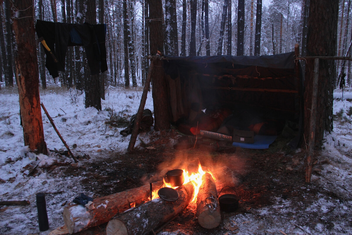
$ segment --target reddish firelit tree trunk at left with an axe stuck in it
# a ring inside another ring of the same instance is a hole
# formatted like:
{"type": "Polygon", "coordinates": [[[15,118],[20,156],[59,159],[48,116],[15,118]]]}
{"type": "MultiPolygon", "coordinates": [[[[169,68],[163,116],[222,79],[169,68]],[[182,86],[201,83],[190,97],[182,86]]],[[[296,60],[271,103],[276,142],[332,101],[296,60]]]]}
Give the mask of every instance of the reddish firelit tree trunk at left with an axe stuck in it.
{"type": "Polygon", "coordinates": [[[17,51],[15,55],[20,115],[23,126],[24,145],[36,153],[48,154],[44,141],[42,112],[39,98],[39,71],[32,0],[16,1],[12,10],[12,26],[17,51]],[[18,12],[17,9],[27,9],[18,12]]]}

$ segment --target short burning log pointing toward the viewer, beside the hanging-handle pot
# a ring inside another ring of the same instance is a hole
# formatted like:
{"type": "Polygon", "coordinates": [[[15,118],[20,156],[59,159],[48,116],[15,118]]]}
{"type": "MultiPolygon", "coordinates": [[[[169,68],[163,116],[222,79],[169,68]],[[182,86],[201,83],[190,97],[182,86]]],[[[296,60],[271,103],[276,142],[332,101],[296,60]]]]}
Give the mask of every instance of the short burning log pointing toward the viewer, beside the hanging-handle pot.
{"type": "Polygon", "coordinates": [[[203,228],[211,229],[219,226],[221,214],[218,193],[211,174],[205,173],[197,195],[198,223],[203,228]]]}

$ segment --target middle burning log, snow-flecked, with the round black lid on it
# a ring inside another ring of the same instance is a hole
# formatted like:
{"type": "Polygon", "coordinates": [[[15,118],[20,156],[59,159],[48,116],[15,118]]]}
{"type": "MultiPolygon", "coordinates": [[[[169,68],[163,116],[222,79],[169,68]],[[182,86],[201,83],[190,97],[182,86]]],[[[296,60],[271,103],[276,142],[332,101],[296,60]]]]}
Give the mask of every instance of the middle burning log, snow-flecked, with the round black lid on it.
{"type": "Polygon", "coordinates": [[[107,235],[146,234],[162,226],[186,208],[193,198],[194,186],[191,182],[178,187],[180,197],[168,202],[161,198],[153,199],[139,207],[115,217],[106,226],[107,235]]]}

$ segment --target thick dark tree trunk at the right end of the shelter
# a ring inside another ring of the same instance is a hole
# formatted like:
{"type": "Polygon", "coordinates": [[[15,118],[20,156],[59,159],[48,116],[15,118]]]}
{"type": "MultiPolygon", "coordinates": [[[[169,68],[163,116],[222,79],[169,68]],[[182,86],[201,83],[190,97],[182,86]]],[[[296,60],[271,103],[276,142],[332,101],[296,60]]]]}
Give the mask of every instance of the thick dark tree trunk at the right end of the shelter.
{"type": "MultiPolygon", "coordinates": [[[[335,56],[337,43],[338,1],[310,0],[308,18],[307,56],[335,56]],[[322,24],[324,22],[324,24],[322,24]],[[322,40],[323,39],[323,40],[322,40]]],[[[321,146],[324,131],[333,129],[333,60],[320,60],[318,104],[316,112],[315,143],[321,146]]],[[[307,61],[305,80],[304,136],[308,139],[310,129],[309,108],[312,103],[314,80],[313,60],[307,61]]]]}

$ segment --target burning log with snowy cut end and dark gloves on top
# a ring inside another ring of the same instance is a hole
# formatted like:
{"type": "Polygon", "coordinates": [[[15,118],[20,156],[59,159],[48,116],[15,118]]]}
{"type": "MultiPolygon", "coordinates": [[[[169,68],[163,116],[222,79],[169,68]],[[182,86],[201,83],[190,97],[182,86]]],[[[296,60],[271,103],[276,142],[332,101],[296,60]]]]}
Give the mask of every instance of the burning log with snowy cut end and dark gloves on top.
{"type": "MultiPolygon", "coordinates": [[[[163,182],[153,184],[153,190],[162,188],[163,182]]],[[[111,218],[135,205],[148,201],[150,185],[114,193],[93,200],[94,209],[73,204],[64,208],[63,217],[70,234],[108,222],[111,218]]]]}

